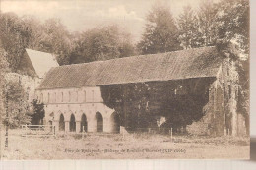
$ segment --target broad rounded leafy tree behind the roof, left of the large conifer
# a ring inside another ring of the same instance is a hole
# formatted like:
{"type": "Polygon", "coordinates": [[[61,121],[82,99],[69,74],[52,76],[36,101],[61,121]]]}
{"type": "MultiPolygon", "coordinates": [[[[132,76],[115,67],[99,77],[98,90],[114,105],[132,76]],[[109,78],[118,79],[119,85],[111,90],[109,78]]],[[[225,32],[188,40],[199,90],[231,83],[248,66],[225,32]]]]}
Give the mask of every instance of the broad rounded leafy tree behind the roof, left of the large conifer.
{"type": "Polygon", "coordinates": [[[93,28],[77,36],[70,63],[108,60],[134,54],[131,35],[117,26],[93,28]]]}

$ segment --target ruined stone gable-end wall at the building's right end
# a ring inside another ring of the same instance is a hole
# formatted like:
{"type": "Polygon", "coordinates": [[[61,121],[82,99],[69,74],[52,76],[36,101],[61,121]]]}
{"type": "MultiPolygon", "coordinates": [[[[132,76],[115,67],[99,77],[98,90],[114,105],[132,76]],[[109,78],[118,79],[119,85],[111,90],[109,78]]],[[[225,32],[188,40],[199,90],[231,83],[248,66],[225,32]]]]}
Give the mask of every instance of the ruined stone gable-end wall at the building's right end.
{"type": "Polygon", "coordinates": [[[238,73],[235,62],[225,58],[217,80],[210,85],[209,102],[204,107],[205,116],[188,125],[188,133],[213,136],[245,135],[245,119],[237,112],[237,95],[238,73]]]}

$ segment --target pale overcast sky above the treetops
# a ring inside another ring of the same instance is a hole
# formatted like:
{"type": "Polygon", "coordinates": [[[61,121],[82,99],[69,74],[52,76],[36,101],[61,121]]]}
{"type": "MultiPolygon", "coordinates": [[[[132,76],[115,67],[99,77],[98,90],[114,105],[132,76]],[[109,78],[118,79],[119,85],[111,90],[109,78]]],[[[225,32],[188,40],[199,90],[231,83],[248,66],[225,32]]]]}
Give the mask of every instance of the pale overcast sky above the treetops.
{"type": "MultiPolygon", "coordinates": [[[[1,1],[1,0],[0,0],[1,1]]],[[[197,8],[201,0],[2,0],[2,12],[32,15],[44,21],[59,18],[70,31],[117,24],[139,40],[145,16],[156,3],[169,6],[178,16],[184,5],[197,8]]]]}

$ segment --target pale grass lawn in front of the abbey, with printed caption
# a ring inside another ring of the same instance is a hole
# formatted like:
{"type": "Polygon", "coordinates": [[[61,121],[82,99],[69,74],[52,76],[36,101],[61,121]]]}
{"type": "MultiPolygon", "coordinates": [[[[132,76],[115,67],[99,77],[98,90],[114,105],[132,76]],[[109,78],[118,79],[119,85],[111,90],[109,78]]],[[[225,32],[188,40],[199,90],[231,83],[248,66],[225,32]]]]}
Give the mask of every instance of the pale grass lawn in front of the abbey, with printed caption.
{"type": "Polygon", "coordinates": [[[194,137],[154,134],[88,134],[22,137],[9,130],[5,148],[1,131],[1,158],[5,159],[248,159],[249,138],[194,137]]]}

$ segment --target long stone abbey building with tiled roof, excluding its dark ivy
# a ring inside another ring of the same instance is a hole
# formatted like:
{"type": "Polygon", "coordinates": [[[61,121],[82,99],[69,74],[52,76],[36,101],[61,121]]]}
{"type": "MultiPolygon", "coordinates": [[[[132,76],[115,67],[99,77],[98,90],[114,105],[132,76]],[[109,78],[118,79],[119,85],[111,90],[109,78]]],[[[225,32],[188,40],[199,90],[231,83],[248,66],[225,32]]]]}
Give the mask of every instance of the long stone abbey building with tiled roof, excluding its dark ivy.
{"type": "MultiPolygon", "coordinates": [[[[131,101],[124,99],[119,112],[109,108],[102,97],[102,86],[122,85],[125,94],[132,84],[171,84],[173,88],[161,92],[179,96],[177,102],[184,102],[182,98],[188,96],[204,98],[197,110],[200,116],[184,125],[189,133],[224,135],[228,131],[236,136],[246,133],[245,118],[237,112],[237,81],[235,60],[216,47],[203,47],[53,67],[36,88],[35,97],[44,103],[44,122],[55,125],[57,131],[118,133],[120,127],[127,128],[126,108],[131,101]],[[122,112],[124,121],[120,120],[122,112]]],[[[180,111],[175,105],[170,107],[175,114],[180,111]]],[[[163,117],[160,113],[158,116],[163,117]]],[[[175,117],[170,116],[169,121],[172,119],[175,117]]]]}

